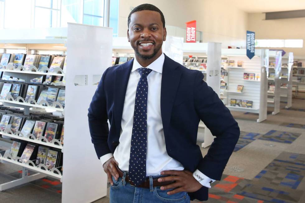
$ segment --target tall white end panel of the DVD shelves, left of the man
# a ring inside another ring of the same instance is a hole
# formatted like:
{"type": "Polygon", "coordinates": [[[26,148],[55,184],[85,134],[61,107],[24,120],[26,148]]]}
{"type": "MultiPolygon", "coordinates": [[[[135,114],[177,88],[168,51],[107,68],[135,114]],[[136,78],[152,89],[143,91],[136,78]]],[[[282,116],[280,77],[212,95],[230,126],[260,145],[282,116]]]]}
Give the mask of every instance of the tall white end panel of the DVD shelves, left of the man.
{"type": "Polygon", "coordinates": [[[87,109],[97,88],[93,77],[111,66],[112,28],[68,23],[67,51],[62,202],[93,202],[106,196],[107,176],[91,143],[87,109]]]}

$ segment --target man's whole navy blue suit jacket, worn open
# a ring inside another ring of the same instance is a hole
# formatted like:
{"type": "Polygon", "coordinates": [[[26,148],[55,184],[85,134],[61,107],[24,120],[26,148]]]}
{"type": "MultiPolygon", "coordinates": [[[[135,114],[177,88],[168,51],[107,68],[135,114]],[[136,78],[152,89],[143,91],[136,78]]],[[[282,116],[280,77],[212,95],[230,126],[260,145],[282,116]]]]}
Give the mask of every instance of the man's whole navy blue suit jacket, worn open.
{"type": "MultiPolygon", "coordinates": [[[[106,69],[88,109],[91,140],[98,158],[114,153],[119,144],[132,66],[133,60],[106,69]]],[[[168,155],[179,161],[185,170],[199,169],[209,178],[220,180],[240,131],[228,108],[203,78],[201,72],[189,70],[165,56],[161,82],[165,144],[168,155]],[[204,157],[196,144],[200,120],[216,136],[204,157]]],[[[189,195],[192,200],[207,200],[208,188],[202,187],[189,195]]]]}

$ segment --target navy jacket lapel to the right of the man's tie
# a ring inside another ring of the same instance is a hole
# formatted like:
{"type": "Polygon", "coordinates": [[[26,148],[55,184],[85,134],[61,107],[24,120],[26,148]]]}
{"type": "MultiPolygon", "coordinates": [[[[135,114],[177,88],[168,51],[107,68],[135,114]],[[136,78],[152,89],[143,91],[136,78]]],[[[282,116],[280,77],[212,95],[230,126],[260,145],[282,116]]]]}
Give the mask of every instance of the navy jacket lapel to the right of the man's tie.
{"type": "Polygon", "coordinates": [[[161,117],[163,128],[169,125],[171,111],[180,82],[181,70],[177,67],[178,65],[165,55],[161,81],[161,117]]]}

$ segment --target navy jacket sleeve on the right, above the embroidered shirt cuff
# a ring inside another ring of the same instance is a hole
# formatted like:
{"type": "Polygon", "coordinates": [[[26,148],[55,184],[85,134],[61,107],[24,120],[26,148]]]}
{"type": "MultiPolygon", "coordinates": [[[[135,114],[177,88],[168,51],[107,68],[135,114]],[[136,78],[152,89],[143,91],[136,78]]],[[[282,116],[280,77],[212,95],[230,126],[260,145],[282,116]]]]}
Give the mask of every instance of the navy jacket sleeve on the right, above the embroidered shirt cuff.
{"type": "Polygon", "coordinates": [[[199,118],[216,137],[197,168],[209,178],[220,180],[238,141],[240,130],[229,109],[203,78],[203,74],[198,72],[194,86],[195,109],[199,118]]]}

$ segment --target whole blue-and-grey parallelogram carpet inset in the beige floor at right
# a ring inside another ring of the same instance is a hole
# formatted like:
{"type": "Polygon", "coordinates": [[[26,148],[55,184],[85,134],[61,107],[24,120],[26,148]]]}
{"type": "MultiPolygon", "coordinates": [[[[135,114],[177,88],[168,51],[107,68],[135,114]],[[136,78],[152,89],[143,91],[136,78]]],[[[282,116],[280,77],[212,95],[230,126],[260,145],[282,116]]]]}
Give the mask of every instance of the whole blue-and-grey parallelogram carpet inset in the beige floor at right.
{"type": "Polygon", "coordinates": [[[265,135],[261,136],[259,139],[291,144],[300,135],[300,133],[270,130],[265,135]]]}

